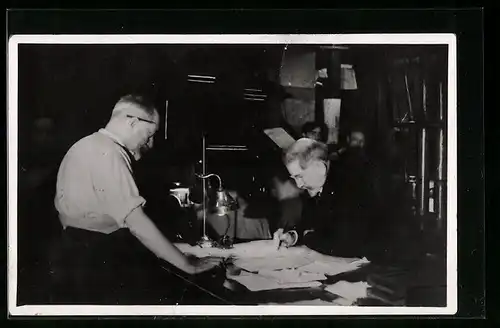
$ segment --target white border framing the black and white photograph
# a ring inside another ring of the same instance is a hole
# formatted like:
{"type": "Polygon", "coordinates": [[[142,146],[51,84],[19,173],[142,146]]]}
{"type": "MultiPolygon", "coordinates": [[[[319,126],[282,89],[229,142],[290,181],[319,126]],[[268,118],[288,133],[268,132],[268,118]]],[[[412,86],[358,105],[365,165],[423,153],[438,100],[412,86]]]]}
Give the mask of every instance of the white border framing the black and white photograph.
{"type": "Polygon", "coordinates": [[[13,35],[8,43],[8,313],[11,316],[453,315],[457,281],[457,42],[455,34],[13,35]],[[356,44],[448,46],[446,307],[354,306],[17,306],[18,47],[20,44],[356,44]]]}

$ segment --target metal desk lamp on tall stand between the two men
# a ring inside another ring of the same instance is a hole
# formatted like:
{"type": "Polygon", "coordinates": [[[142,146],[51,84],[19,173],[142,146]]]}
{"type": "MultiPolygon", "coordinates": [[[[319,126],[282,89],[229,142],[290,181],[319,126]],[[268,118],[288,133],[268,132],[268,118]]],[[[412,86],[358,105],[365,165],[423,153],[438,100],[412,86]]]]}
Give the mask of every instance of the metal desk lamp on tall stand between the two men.
{"type": "Polygon", "coordinates": [[[206,222],[207,222],[207,189],[205,179],[210,177],[216,177],[219,181],[219,187],[215,191],[215,195],[209,197],[208,201],[208,211],[217,216],[225,216],[228,213],[236,210],[238,208],[238,203],[229,195],[222,186],[222,179],[217,174],[211,173],[206,174],[206,146],[205,146],[205,136],[203,136],[203,174],[196,175],[198,178],[203,179],[203,236],[201,240],[198,241],[198,245],[201,247],[215,247],[216,243],[211,240],[206,234],[206,222]]]}

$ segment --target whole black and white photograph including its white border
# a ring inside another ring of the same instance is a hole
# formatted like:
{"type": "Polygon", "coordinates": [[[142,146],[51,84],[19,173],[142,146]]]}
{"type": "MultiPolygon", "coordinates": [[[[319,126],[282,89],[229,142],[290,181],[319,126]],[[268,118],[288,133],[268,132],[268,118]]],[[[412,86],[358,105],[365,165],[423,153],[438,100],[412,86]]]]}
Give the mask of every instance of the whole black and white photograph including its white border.
{"type": "Polygon", "coordinates": [[[453,34],[14,35],[13,316],[457,312],[453,34]]]}

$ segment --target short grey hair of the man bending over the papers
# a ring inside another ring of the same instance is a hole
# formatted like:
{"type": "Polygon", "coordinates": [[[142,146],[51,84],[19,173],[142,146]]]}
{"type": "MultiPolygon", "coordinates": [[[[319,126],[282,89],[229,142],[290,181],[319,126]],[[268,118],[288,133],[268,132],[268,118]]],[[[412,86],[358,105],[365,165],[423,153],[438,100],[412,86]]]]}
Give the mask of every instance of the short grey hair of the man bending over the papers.
{"type": "Polygon", "coordinates": [[[327,161],[328,146],[309,138],[295,141],[284,153],[283,161],[288,165],[298,160],[302,168],[306,168],[312,160],[327,161]]]}

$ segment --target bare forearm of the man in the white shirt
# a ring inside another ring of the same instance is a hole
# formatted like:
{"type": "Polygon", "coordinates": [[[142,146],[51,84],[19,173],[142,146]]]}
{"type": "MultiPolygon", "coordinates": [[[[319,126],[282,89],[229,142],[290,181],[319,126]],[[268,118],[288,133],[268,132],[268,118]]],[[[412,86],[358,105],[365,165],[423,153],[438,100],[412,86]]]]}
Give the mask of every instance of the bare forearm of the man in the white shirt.
{"type": "Polygon", "coordinates": [[[142,208],[134,210],[126,220],[130,232],[156,256],[175,267],[189,272],[188,258],[175,247],[147,217],[142,208]]]}

